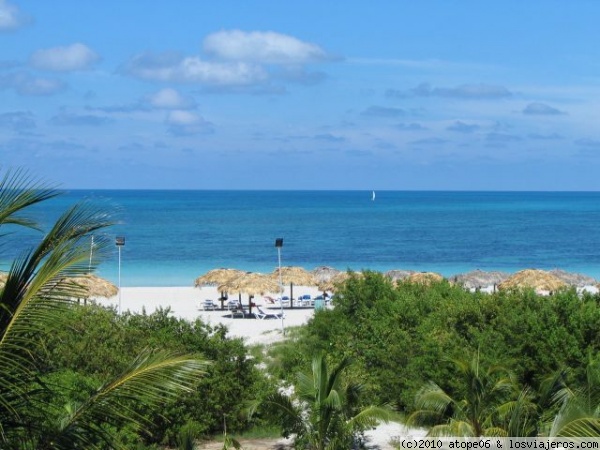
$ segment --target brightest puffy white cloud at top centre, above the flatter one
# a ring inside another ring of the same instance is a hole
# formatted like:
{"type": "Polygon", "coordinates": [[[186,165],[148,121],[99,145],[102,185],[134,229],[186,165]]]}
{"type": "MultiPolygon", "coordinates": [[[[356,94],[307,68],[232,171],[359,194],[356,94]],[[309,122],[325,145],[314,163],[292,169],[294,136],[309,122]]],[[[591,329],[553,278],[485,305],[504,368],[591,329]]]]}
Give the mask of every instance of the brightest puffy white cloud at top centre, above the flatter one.
{"type": "Polygon", "coordinates": [[[303,64],[329,59],[318,45],[272,31],[219,31],[207,36],[204,51],[231,61],[267,64],[303,64]]]}

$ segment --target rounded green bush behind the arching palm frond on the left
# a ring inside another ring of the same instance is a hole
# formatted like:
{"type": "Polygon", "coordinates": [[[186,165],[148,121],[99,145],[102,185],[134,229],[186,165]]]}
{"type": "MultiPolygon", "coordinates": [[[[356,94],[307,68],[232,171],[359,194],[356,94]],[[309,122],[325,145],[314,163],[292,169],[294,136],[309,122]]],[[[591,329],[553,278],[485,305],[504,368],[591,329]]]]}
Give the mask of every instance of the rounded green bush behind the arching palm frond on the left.
{"type": "Polygon", "coordinates": [[[239,433],[263,423],[258,417],[249,422],[245,407],[272,393],[274,386],[256,368],[242,341],[228,338],[224,327],[176,319],[169,310],[119,316],[92,305],[75,306],[67,315],[68,326],[48,338],[44,358],[53,376],[58,371],[63,385],[93,387],[120,373],[147,347],[200,353],[209,362],[193,392],[172,398],[159,411],[143,412],[148,419],[146,444],[174,445],[182,429],[200,438],[221,434],[224,424],[239,433]]]}

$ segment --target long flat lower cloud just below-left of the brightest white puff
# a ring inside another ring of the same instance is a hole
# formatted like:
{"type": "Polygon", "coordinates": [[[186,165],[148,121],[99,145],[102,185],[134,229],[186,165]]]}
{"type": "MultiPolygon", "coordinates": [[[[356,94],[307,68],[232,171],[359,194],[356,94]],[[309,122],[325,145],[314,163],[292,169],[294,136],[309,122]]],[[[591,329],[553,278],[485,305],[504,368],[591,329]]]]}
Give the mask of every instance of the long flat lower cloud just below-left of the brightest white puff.
{"type": "Polygon", "coordinates": [[[245,86],[260,83],[267,73],[260,66],[203,61],[192,56],[180,58],[172,54],[142,54],[132,58],[125,72],[145,80],[178,83],[200,83],[212,86],[245,86]]]}

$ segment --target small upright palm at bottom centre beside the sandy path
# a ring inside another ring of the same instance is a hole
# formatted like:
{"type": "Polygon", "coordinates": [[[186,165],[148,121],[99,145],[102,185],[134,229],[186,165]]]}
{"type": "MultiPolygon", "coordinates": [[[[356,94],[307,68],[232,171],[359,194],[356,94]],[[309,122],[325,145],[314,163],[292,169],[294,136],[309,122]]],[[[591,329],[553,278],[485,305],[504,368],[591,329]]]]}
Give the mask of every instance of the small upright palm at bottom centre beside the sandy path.
{"type": "Polygon", "coordinates": [[[358,406],[361,387],[345,384],[342,378],[349,365],[344,359],[329,371],[323,355],[317,355],[312,372],[298,374],[294,396],[280,392],[263,401],[269,410],[280,414],[284,434],[295,434],[300,448],[346,450],[367,427],[392,420],[393,413],[387,407],[358,406]]]}

